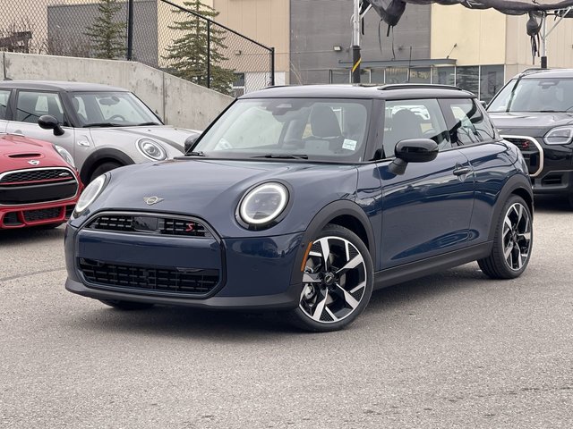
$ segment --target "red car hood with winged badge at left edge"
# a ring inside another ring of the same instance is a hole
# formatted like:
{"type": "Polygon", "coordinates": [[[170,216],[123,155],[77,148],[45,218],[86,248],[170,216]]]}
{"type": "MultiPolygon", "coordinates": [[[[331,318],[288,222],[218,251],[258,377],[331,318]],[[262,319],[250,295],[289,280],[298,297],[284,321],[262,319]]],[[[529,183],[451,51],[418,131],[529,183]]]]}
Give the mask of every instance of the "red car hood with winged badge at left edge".
{"type": "Polygon", "coordinates": [[[0,172],[38,167],[71,168],[47,141],[0,135],[0,172]]]}

